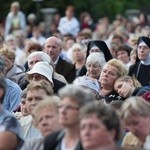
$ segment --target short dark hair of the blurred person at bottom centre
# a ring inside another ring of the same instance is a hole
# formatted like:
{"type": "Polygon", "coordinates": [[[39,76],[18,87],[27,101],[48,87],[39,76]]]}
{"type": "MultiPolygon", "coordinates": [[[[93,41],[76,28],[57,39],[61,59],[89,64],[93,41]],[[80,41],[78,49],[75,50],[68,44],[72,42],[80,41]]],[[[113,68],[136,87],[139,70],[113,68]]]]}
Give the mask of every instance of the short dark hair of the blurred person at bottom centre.
{"type": "Polygon", "coordinates": [[[90,117],[91,114],[95,114],[99,120],[103,122],[106,128],[111,131],[115,130],[116,135],[114,141],[118,141],[120,138],[120,120],[119,116],[113,108],[100,101],[89,103],[81,108],[80,120],[86,117],[90,117]]]}

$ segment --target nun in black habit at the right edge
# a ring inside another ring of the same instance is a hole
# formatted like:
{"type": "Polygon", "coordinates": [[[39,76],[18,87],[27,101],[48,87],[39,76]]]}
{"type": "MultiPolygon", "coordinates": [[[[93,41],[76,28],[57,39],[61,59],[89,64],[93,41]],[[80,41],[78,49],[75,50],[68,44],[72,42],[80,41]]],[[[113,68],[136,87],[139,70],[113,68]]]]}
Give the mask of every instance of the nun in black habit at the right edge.
{"type": "Polygon", "coordinates": [[[130,66],[128,74],[134,76],[142,86],[150,85],[150,38],[139,37],[136,63],[130,66]]]}

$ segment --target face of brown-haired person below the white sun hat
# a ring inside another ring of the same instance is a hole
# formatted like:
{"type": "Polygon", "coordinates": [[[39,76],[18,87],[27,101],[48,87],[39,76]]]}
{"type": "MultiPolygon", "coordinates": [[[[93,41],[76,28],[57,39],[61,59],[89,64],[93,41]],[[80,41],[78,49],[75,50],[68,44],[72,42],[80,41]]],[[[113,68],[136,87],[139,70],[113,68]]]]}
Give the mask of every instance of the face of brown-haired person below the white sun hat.
{"type": "Polygon", "coordinates": [[[47,94],[43,89],[34,89],[27,92],[26,108],[29,114],[31,114],[33,108],[46,96],[47,94]]]}

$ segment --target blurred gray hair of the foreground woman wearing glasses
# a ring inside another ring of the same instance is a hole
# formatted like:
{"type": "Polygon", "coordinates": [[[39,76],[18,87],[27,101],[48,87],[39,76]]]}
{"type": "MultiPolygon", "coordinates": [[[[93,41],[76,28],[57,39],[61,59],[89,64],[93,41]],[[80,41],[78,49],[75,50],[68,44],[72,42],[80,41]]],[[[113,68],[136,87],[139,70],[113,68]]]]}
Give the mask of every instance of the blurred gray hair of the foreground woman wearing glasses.
{"type": "Polygon", "coordinates": [[[68,84],[65,87],[61,88],[58,92],[58,95],[61,99],[65,97],[73,98],[73,100],[75,100],[80,107],[82,107],[86,103],[95,101],[95,98],[91,91],[72,84],[68,84]]]}

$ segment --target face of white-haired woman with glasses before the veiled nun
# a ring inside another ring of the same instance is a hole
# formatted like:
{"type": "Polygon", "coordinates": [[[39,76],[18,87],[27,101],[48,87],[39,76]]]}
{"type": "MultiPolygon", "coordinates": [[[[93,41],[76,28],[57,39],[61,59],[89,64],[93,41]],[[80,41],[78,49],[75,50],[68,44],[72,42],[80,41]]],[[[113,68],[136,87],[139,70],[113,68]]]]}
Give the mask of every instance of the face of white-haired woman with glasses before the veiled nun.
{"type": "Polygon", "coordinates": [[[101,66],[99,66],[96,62],[88,62],[86,64],[87,68],[87,75],[94,79],[99,79],[100,73],[101,73],[101,66]]]}

